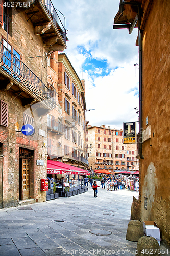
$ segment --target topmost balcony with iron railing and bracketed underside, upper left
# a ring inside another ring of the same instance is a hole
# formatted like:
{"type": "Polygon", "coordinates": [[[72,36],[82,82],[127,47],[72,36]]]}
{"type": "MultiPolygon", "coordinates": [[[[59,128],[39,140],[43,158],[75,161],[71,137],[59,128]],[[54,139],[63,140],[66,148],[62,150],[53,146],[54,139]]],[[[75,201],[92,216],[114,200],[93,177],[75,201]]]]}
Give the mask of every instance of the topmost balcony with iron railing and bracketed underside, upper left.
{"type": "MultiPolygon", "coordinates": [[[[15,5],[18,3],[15,0],[14,2],[15,5]]],[[[23,7],[25,6],[23,5],[23,7]]],[[[23,11],[23,7],[17,5],[16,10],[18,12],[23,11]]],[[[28,16],[27,22],[31,20],[34,26],[34,34],[41,36],[44,47],[53,51],[66,49],[66,29],[51,0],[31,0],[24,10],[28,16]]]]}

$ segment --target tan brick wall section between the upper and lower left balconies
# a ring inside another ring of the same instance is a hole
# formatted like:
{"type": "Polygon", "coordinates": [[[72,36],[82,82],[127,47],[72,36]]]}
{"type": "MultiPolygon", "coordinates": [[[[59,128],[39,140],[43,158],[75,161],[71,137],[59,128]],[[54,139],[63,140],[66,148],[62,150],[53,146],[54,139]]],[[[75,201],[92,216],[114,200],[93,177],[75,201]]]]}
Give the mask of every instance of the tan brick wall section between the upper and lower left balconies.
{"type": "MultiPolygon", "coordinates": [[[[40,35],[34,35],[33,24],[31,20],[28,20],[28,16],[25,12],[18,13],[15,8],[12,8],[11,18],[12,33],[10,33],[10,35],[8,34],[8,43],[21,55],[22,62],[25,63],[40,80],[42,75],[42,81],[46,85],[47,57],[40,35]]],[[[0,28],[0,33],[2,37],[7,40],[7,32],[3,30],[3,28],[0,28]]]]}

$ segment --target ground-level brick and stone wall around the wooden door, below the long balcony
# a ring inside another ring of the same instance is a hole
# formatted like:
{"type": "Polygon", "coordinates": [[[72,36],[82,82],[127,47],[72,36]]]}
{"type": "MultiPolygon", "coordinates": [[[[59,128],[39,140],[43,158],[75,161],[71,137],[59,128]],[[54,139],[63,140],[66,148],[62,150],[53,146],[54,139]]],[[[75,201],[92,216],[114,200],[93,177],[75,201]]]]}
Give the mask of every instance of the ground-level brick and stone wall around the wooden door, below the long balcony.
{"type": "MultiPolygon", "coordinates": [[[[46,148],[43,147],[42,136],[35,134],[27,137],[21,132],[23,112],[18,98],[13,100],[13,93],[1,90],[1,99],[8,103],[8,127],[0,126],[0,143],[3,143],[3,204],[4,207],[17,206],[19,199],[19,147],[34,151],[31,159],[30,199],[45,201],[46,194],[40,191],[40,179],[46,178],[46,148]],[[36,166],[36,160],[44,160],[44,166],[36,166]]],[[[39,124],[39,127],[42,127],[39,124]]],[[[36,130],[37,131],[37,130],[36,130]]],[[[1,174],[2,175],[2,171],[1,174]]],[[[1,200],[1,199],[0,199],[1,200]]]]}

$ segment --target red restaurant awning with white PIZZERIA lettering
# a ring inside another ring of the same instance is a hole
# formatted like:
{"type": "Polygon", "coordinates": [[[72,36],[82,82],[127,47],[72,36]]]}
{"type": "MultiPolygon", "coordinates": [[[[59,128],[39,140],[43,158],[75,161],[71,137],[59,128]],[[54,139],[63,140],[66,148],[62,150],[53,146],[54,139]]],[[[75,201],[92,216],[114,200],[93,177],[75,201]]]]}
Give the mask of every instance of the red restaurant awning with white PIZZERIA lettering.
{"type": "Polygon", "coordinates": [[[47,174],[79,174],[90,175],[91,173],[59,161],[47,160],[47,174]]]}

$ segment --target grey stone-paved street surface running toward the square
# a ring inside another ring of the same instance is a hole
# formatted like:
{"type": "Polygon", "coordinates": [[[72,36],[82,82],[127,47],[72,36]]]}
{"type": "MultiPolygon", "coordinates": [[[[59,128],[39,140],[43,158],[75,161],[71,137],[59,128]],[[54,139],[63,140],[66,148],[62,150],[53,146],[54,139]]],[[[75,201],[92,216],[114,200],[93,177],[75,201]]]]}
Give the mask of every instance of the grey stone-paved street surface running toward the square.
{"type": "Polygon", "coordinates": [[[69,198],[1,209],[0,255],[134,255],[137,243],[126,240],[126,231],[138,192],[100,186],[98,196],[88,187],[69,198]]]}

